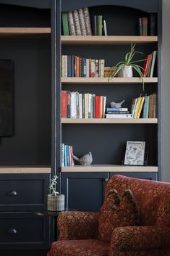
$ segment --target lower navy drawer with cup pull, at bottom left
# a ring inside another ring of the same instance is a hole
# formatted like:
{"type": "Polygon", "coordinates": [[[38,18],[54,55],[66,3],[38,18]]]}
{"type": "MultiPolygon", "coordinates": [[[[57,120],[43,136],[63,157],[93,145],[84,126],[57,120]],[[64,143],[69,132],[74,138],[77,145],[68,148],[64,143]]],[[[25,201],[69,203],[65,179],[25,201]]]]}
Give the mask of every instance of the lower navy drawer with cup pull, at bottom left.
{"type": "Polygon", "coordinates": [[[46,248],[49,246],[49,218],[34,213],[0,213],[0,249],[46,248]]]}

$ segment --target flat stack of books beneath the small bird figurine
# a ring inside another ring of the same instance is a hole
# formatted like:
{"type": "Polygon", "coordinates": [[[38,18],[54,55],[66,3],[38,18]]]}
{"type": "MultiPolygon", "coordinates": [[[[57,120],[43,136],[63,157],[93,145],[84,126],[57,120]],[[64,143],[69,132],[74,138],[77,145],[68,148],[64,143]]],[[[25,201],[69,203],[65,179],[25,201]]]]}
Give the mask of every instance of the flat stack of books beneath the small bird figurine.
{"type": "Polygon", "coordinates": [[[132,118],[127,107],[107,107],[106,118],[132,118]]]}

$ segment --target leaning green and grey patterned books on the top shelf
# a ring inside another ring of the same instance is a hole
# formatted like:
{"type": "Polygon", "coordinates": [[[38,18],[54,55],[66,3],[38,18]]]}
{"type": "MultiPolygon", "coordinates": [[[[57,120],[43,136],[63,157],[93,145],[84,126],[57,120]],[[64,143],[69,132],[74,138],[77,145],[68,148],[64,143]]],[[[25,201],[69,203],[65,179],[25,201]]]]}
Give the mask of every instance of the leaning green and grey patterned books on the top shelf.
{"type": "Polygon", "coordinates": [[[62,12],[61,16],[64,36],[92,36],[88,7],[62,12]]]}

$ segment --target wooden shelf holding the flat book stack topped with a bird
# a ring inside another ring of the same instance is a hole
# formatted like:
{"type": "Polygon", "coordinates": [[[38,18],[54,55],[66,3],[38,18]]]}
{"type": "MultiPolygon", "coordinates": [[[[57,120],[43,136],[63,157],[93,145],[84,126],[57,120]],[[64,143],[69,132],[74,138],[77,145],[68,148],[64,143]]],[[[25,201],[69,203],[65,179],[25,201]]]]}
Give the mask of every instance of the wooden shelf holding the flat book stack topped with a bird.
{"type": "Polygon", "coordinates": [[[92,118],[92,119],[79,119],[79,118],[61,118],[61,123],[65,124],[94,124],[94,123],[101,123],[101,124],[116,124],[116,123],[124,123],[124,124],[156,124],[158,123],[157,118],[92,118]]]}

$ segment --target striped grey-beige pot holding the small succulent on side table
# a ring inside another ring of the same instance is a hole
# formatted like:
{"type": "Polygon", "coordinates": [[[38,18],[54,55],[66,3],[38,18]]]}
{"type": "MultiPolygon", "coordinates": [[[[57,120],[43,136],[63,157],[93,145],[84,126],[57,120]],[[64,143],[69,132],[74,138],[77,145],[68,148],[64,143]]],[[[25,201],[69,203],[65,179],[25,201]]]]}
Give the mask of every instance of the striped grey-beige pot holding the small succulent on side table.
{"type": "Polygon", "coordinates": [[[49,211],[61,211],[64,210],[64,194],[58,196],[52,196],[48,194],[47,197],[47,210],[49,211]]]}

